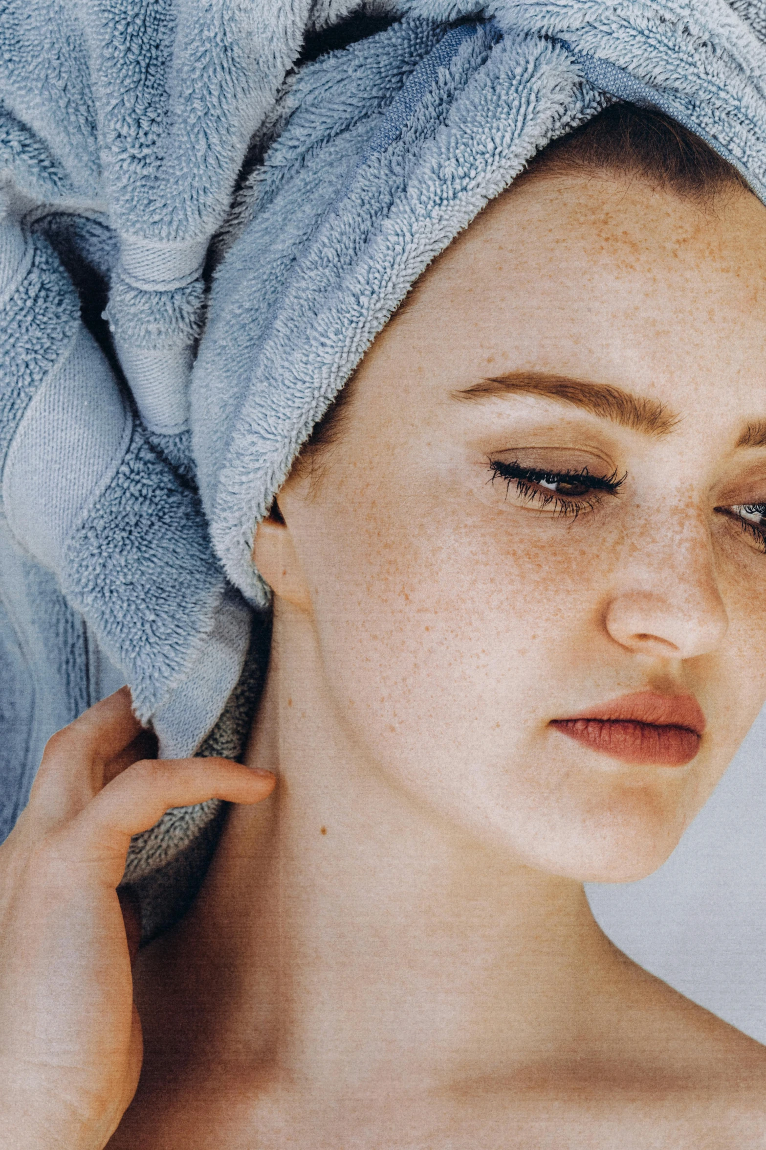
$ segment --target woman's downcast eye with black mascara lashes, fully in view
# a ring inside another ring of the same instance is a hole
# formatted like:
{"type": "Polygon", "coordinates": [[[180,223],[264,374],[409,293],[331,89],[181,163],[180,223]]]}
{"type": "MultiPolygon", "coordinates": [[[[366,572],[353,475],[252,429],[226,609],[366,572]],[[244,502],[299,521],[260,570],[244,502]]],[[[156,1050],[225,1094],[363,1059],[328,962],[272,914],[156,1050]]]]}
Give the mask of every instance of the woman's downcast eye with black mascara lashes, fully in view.
{"type": "Polygon", "coordinates": [[[590,511],[604,494],[617,494],[626,476],[591,475],[588,467],[578,470],[548,470],[529,467],[518,460],[489,460],[489,482],[495,486],[498,482],[505,488],[505,498],[514,497],[514,501],[549,509],[555,515],[578,515],[590,511]]]}

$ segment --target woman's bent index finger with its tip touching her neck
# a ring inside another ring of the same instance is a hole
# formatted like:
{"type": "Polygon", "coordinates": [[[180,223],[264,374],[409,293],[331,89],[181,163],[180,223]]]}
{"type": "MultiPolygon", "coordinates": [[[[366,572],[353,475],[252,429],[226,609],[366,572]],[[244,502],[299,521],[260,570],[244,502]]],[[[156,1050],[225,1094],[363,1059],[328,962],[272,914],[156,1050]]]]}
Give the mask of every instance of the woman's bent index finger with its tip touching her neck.
{"type": "Polygon", "coordinates": [[[68,828],[76,852],[95,862],[100,880],[116,885],[133,835],[148,830],[165,811],[218,798],[260,803],[274,788],[269,770],[231,759],[141,759],[113,779],[68,828]]]}

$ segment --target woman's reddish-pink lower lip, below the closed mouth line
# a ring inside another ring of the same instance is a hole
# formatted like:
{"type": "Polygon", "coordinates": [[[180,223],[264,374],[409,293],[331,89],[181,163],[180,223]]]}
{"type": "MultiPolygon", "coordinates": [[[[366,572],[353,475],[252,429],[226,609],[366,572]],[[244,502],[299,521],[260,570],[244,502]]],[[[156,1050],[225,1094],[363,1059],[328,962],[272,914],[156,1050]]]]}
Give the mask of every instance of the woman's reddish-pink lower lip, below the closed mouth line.
{"type": "Polygon", "coordinates": [[[699,735],[687,727],[617,719],[556,719],[550,726],[591,751],[622,762],[682,767],[699,750],[699,735]]]}

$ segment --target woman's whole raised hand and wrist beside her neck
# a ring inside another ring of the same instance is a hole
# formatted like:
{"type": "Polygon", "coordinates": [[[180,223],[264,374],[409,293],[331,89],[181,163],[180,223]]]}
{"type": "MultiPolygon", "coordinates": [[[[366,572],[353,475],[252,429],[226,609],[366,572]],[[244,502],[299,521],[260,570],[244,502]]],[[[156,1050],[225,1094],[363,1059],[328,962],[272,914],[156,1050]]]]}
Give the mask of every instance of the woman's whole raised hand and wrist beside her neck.
{"type": "Polygon", "coordinates": [[[2,1150],[100,1150],[133,1097],[133,931],[115,889],[131,835],[170,807],[257,803],[274,785],[227,759],[146,753],[123,688],[54,735],[0,846],[2,1150]]]}

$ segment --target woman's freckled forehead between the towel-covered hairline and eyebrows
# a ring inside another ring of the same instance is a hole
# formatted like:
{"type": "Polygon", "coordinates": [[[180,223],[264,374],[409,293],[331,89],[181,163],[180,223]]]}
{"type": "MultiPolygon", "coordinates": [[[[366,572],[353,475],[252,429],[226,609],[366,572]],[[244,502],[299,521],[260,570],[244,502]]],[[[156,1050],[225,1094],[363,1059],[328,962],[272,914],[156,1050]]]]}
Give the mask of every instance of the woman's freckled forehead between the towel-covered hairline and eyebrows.
{"type": "Polygon", "coordinates": [[[536,369],[671,406],[737,383],[764,407],[765,268],[749,192],[703,209],[637,181],[534,175],[434,261],[361,374],[395,363],[443,389],[536,369]]]}

